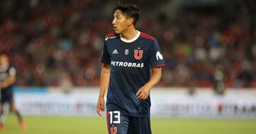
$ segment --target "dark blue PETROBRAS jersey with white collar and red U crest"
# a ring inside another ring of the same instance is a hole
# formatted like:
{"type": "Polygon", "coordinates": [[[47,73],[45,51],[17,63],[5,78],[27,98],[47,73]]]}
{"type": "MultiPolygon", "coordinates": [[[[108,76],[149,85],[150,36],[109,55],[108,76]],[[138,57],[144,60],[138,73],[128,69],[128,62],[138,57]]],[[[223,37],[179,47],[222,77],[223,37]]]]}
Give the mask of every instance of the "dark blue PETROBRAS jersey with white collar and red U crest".
{"type": "Polygon", "coordinates": [[[119,110],[129,116],[149,116],[150,97],[142,101],[136,93],[149,82],[151,68],[164,66],[156,39],[139,31],[132,40],[107,35],[101,61],[110,65],[107,110],[119,110]]]}

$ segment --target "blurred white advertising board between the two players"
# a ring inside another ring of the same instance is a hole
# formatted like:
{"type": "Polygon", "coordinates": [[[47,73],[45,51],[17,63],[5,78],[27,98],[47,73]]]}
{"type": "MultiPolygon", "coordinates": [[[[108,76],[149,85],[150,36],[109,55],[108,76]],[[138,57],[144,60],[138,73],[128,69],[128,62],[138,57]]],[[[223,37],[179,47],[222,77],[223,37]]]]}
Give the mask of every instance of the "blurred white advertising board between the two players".
{"type": "Polygon", "coordinates": [[[96,116],[97,89],[74,90],[70,94],[58,88],[41,92],[18,90],[15,102],[24,115],[96,116]]]}

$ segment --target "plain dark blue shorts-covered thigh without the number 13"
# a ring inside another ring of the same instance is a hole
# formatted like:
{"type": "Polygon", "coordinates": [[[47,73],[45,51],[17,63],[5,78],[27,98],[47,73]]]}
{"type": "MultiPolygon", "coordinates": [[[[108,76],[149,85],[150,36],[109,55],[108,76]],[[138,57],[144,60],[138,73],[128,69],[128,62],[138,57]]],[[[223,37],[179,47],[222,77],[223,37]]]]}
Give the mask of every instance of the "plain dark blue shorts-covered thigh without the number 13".
{"type": "Polygon", "coordinates": [[[150,117],[130,117],[128,134],[151,134],[150,117]]]}

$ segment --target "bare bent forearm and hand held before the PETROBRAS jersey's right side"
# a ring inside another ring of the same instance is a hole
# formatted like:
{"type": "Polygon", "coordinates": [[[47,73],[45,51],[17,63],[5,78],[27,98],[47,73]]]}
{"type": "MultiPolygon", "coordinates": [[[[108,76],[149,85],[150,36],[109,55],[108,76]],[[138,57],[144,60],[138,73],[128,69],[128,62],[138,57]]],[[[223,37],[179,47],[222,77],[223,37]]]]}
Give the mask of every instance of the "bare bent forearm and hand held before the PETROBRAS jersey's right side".
{"type": "Polygon", "coordinates": [[[161,67],[156,67],[152,69],[152,74],[149,79],[149,82],[147,82],[144,86],[142,86],[137,91],[137,99],[145,100],[149,97],[149,91],[156,85],[161,79],[161,67]]]}

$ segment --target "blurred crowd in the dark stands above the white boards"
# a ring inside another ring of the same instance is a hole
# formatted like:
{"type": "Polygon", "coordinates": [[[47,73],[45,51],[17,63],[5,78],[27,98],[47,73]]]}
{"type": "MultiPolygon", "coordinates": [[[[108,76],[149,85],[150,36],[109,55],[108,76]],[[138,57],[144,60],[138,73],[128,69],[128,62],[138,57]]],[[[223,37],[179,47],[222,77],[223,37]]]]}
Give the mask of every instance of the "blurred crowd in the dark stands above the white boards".
{"type": "MultiPolygon", "coordinates": [[[[99,86],[115,2],[1,1],[0,52],[11,57],[17,84],[60,86],[69,79],[74,86],[99,86]]],[[[163,51],[166,66],[159,86],[211,87],[219,65],[226,87],[256,87],[255,1],[129,2],[142,9],[138,30],[153,35],[163,51]]]]}

